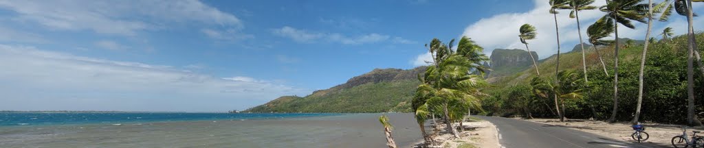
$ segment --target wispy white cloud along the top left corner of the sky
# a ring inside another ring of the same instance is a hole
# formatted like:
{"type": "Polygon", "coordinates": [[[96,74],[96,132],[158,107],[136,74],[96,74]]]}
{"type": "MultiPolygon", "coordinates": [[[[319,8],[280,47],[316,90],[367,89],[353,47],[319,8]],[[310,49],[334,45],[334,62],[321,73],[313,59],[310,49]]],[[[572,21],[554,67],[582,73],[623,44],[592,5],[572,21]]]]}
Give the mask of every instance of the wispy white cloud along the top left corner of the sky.
{"type": "Polygon", "coordinates": [[[201,22],[241,29],[236,16],[200,1],[0,1],[14,11],[13,20],[37,22],[49,29],[92,30],[99,34],[134,36],[175,22],[201,22]]]}

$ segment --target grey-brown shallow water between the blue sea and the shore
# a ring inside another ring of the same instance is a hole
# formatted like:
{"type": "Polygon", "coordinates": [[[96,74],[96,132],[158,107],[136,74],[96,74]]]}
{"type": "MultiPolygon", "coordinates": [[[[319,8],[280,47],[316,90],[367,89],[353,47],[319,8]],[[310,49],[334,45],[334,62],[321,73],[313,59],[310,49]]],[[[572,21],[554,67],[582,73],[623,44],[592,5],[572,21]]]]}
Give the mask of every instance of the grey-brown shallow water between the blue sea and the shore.
{"type": "MultiPolygon", "coordinates": [[[[386,147],[381,115],[0,126],[0,147],[386,147]]],[[[413,114],[386,115],[399,147],[422,140],[413,114]]]]}

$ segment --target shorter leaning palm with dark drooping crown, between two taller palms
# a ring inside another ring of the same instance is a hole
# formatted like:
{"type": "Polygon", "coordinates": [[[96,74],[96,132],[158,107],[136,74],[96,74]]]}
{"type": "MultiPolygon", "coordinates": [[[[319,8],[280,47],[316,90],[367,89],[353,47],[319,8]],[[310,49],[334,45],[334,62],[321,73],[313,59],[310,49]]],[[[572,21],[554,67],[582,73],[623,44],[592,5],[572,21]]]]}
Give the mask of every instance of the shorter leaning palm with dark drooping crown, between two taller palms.
{"type": "Polygon", "coordinates": [[[589,25],[589,27],[586,28],[586,35],[589,36],[589,43],[591,43],[594,48],[594,51],[596,51],[596,55],[599,58],[599,62],[601,62],[601,66],[604,69],[604,74],[606,76],[609,76],[609,72],[606,71],[606,65],[604,64],[604,60],[601,58],[601,53],[599,53],[598,48],[596,46],[606,46],[610,45],[613,43],[612,40],[602,40],[602,38],[605,38],[607,36],[610,36],[609,34],[614,32],[614,27],[611,25],[613,20],[609,19],[599,19],[594,22],[593,25],[589,25]]]}

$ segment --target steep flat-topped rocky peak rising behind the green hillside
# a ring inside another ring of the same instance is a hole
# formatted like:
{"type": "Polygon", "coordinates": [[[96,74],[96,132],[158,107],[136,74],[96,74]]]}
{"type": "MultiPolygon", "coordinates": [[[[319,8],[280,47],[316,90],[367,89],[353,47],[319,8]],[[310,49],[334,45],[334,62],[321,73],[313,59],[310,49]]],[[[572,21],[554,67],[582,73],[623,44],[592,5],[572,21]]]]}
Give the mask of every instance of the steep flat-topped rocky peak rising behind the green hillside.
{"type": "MultiPolygon", "coordinates": [[[[538,58],[538,53],[531,51],[533,58],[538,58]]],[[[506,76],[522,72],[532,67],[533,62],[527,51],[521,49],[494,49],[491,52],[490,67],[492,69],[488,77],[506,76]]]]}

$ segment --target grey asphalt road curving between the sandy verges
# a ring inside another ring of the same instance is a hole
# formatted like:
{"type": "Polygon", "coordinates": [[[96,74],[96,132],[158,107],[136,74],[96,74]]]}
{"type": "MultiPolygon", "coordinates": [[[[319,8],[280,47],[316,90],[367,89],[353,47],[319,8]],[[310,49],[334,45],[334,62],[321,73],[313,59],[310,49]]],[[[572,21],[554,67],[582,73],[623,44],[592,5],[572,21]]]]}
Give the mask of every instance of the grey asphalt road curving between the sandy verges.
{"type": "MultiPolygon", "coordinates": [[[[496,125],[499,142],[506,148],[531,147],[658,147],[631,142],[621,142],[609,137],[551,126],[530,121],[520,121],[494,116],[477,116],[496,125]]],[[[631,130],[631,129],[624,129],[631,130]]]]}

